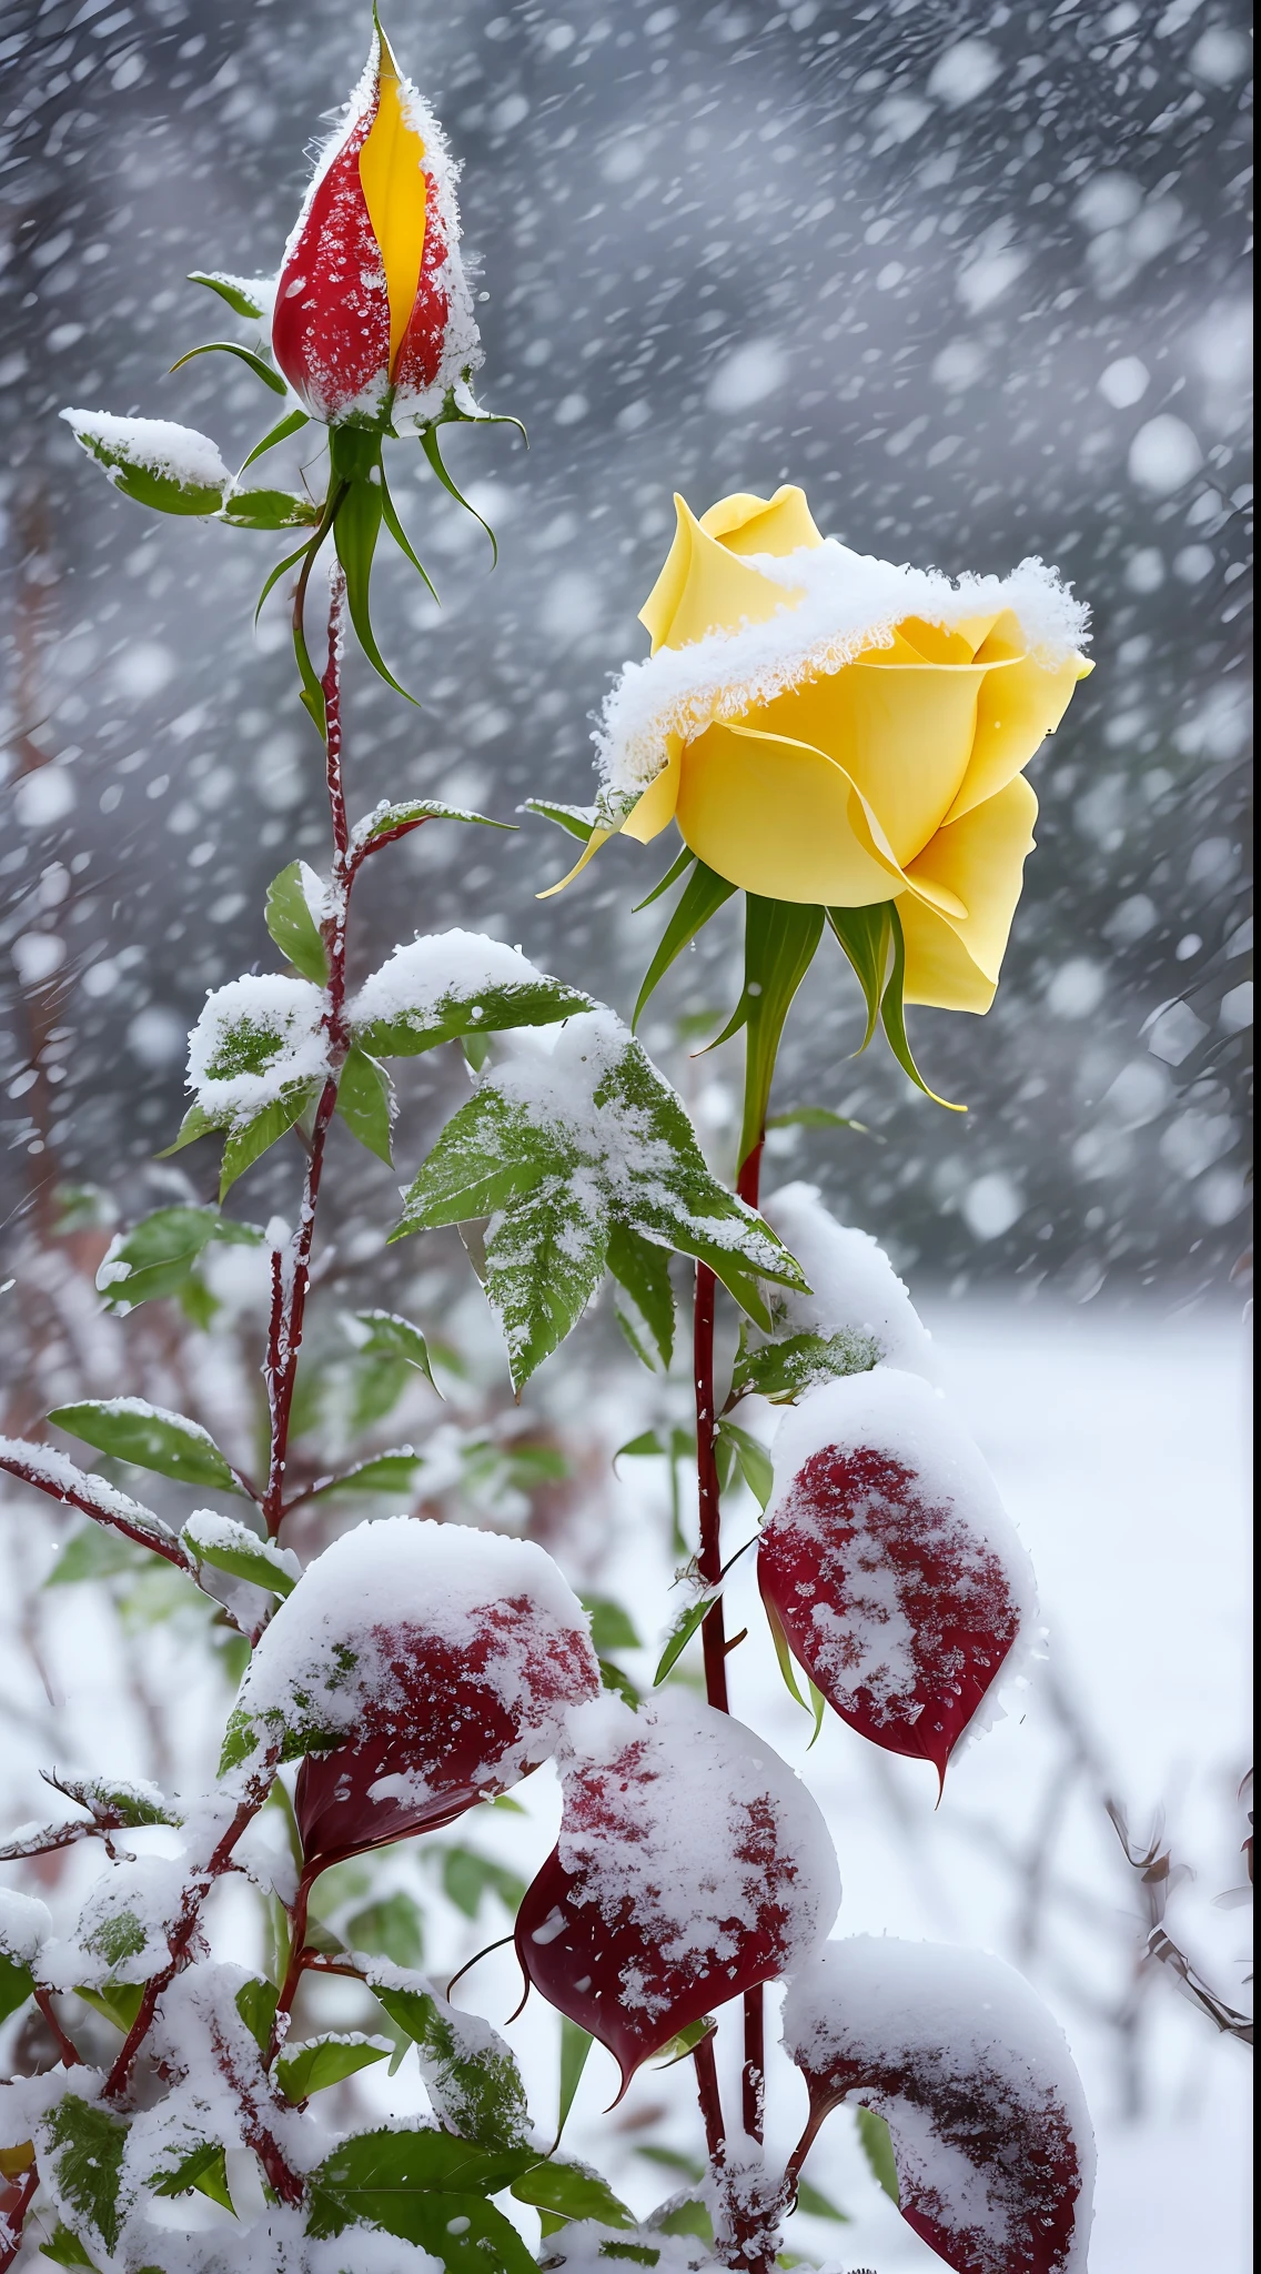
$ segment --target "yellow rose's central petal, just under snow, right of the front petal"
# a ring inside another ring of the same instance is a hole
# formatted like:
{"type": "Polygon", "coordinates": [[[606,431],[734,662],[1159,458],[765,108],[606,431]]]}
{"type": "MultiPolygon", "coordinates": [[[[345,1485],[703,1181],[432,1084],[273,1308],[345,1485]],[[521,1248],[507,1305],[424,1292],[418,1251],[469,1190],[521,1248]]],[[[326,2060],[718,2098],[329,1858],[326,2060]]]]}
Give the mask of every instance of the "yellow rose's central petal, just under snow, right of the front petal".
{"type": "Polygon", "coordinates": [[[888,648],[870,648],[857,664],[791,687],[745,716],[766,735],[809,741],[836,760],[904,864],[927,846],[966,780],[984,678],[972,664],[907,664],[888,648]]]}

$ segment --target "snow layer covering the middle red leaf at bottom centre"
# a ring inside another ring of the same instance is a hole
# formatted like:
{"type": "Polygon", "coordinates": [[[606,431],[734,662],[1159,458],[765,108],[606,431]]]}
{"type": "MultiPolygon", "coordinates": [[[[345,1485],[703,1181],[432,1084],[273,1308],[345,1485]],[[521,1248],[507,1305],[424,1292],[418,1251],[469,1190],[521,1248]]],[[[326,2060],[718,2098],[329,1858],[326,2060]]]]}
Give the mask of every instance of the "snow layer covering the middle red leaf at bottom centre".
{"type": "MultiPolygon", "coordinates": [[[[800,1965],[841,1906],[836,1851],[800,1776],[732,1715],[684,1690],[632,1712],[602,1694],[570,1715],[561,1758],[559,1862],[575,1901],[636,1928],[673,1967],[734,1956],[732,1928],[782,1917],[784,1967],[800,1965]]],[[[634,1969],[627,1969],[634,1976],[634,1969]]],[[[623,1974],[627,2006],[654,1992],[623,1974]]]]}

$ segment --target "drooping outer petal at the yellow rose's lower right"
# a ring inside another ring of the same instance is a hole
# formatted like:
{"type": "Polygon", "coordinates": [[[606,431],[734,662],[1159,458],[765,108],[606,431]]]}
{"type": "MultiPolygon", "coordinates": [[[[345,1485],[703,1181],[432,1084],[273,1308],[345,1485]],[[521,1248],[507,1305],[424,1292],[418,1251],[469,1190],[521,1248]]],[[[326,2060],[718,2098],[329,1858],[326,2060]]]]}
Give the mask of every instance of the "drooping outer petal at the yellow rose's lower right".
{"type": "Polygon", "coordinates": [[[1022,773],[963,821],[938,830],[911,862],[911,885],[945,887],[968,910],[943,916],[913,894],[897,901],[907,939],[907,1003],[986,1012],[1020,898],[1025,860],[1034,850],[1038,800],[1022,773]]]}

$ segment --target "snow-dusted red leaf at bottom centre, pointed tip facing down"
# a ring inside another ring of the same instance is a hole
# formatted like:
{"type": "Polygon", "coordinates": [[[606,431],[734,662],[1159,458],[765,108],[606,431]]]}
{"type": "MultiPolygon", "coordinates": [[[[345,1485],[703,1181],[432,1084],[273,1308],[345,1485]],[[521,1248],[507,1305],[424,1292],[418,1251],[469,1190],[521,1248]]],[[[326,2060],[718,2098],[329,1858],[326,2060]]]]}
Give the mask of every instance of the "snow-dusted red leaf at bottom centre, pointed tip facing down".
{"type": "Polygon", "coordinates": [[[623,2090],[713,2006],[800,1965],[841,1903],[802,1781],[682,1690],[570,1717],[561,1835],[525,1892],[527,1978],[609,2047],[623,2090]]]}

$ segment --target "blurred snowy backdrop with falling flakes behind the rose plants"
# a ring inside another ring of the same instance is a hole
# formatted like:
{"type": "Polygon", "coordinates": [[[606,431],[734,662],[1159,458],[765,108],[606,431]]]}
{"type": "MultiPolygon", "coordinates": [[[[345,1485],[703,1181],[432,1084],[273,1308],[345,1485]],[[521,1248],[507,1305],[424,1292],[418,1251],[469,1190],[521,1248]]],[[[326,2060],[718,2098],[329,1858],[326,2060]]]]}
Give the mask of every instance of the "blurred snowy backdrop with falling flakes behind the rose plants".
{"type": "MultiPolygon", "coordinates": [[[[841,955],[820,955],[775,1105],[834,1107],[866,1135],[782,1130],[768,1162],[770,1182],[822,1185],[909,1276],[1034,1549],[1052,1674],[952,1771],[936,1817],[904,1765],[868,1760],[836,1724],[809,1776],[838,1826],[847,1928],[1007,1949],[1070,2028],[1104,2140],[1100,2274],[1234,2274],[1247,2056],[1177,1965],[1143,1951],[1166,1890],[1184,1962],[1229,2008],[1245,1997],[1245,11],[395,0],[384,20],[464,164],[486,296],[479,393],[525,421],[529,453],[507,428],[450,437],[452,473],[500,537],[491,575],[486,539],[416,446],[393,450],[441,609],[382,557],[377,632],[420,709],[352,659],[352,810],[432,791],[520,832],[425,830],[382,857],[357,907],[359,976],[395,939],[464,923],[629,1012],[661,928],[661,907],[636,916],[632,903],[670,848],[611,844],[538,903],[570,839],[516,807],[593,796],[591,714],[609,673],[645,653],[634,619],[675,489],[702,509],[736,487],[802,482],[820,528],[857,550],[950,573],[1041,555],[1093,605],[1097,669],[1032,769],[1038,853],[995,1010],[913,1014],[927,1078],[968,1114],[916,1096],[877,1046],[850,1055],[857,987],[841,955]],[[1172,1862],[1143,1878],[1159,1808],[1172,1862]]],[[[164,377],[198,341],[250,337],[184,277],[275,271],[366,39],[366,9],[345,0],[0,11],[11,1430],[36,1430],[59,1399],[132,1389],[250,1451],[252,1251],[216,1251],[195,1301],[125,1323],[102,1317],[93,1271],[114,1223],[214,1194],[209,1146],[152,1155],[182,1114],[207,987],[275,960],[268,880],[295,853],[325,860],[320,753],[284,609],[250,634],[279,541],[118,500],[57,409],[177,418],[245,455],[270,398],[241,366],[164,377]]],[[[302,459],[273,464],[295,480],[302,459]]],[[[725,1173],[738,1044],[691,1053],[736,987],[725,910],[645,1023],[725,1173]]],[[[402,1176],[464,1096],[448,1060],[400,1069],[402,1176]]],[[[636,1373],[600,1312],[513,1408],[454,1235],[382,1253],[395,1178],[334,1135],[304,1360],[311,1462],[361,1433],[416,1437],[416,1505],[554,1546],[625,1605],[643,1642],[625,1662],[648,1680],[668,1610],[666,1462],[623,1462],[611,1483],[609,1451],[645,1428],[668,1442],[686,1380],[636,1373]],[[445,1410],[400,1378],[391,1396],[341,1333],[354,1303],[395,1301],[448,1348],[445,1410]]],[[[232,1205],[259,1223],[291,1212],[289,1148],[232,1205]]],[[[125,1480],[177,1512],[161,1483],[125,1480]]],[[[100,1767],[107,1737],[120,1774],[200,1776],[234,1671],[204,1605],[127,1555],[82,1546],[66,1562],[45,1505],[16,1494],[2,1510],[7,1819],[48,1812],[39,1765],[100,1767]]],[[[298,1544],[368,1512],[343,1501],[298,1544]]],[[[757,1660],[741,1694],[804,1760],[773,1662],[757,1660]]],[[[534,1787],[541,1856],[554,1787],[534,1787]]],[[[511,1840],[479,1828],[477,1842],[509,1874],[498,1890],[493,1872],[407,1851],[384,1881],[343,1890],[343,1910],[404,1897],[423,1926],[395,1912],[395,1947],[423,1933],[434,1965],[459,1962],[504,1931],[523,1867],[511,1840]]],[[[75,1865],[55,1862],[73,1892],[75,1865]]],[[[516,2001],[493,1974],[479,1999],[495,2017],[516,2001]]],[[[552,2040],[543,2022],[523,2028],[545,2099],[552,2040]]],[[[652,2149],[695,2149],[679,2078],[636,2085],[613,2163],[598,2063],[588,2083],[575,2147],[636,2206],[652,2201],[650,2181],[670,2181],[652,2149]]],[[[818,2183],[854,2224],[807,2219],[802,2247],[879,2274],[927,2267],[836,2140],[836,2178],[818,2183]]]]}

